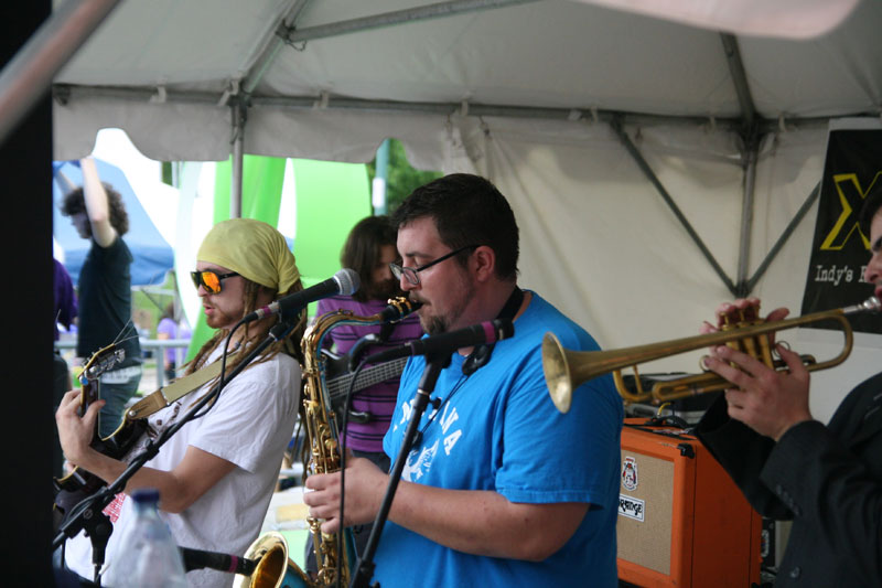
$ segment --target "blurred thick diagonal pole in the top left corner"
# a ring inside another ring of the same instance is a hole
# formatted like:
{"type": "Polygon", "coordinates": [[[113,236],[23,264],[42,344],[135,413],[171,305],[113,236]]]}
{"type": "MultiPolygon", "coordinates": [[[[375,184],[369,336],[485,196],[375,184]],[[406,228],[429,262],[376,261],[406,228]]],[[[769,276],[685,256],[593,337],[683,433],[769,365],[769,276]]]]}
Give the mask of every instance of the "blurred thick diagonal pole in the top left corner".
{"type": "Polygon", "coordinates": [[[7,64],[0,74],[0,143],[118,2],[67,0],[7,64]]]}

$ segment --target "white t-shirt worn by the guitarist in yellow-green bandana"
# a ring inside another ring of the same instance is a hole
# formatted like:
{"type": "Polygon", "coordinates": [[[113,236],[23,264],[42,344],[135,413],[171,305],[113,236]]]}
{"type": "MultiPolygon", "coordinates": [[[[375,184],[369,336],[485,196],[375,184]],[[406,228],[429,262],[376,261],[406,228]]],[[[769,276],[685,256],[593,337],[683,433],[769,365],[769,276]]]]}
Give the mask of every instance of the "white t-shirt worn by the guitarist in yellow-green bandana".
{"type": "MultiPolygon", "coordinates": [[[[208,362],[215,361],[215,350],[208,362]]],[[[220,479],[181,514],[161,513],[175,542],[191,547],[243,556],[257,538],[278,481],[282,455],[293,435],[300,403],[300,365],[294,359],[277,354],[251,364],[234,377],[205,416],[184,425],[163,445],[147,467],[172,470],[187,447],[223,458],[236,468],[220,479]]],[[[164,428],[168,420],[189,411],[190,405],[207,385],[182,400],[155,413],[149,420],[164,428]]],[[[131,498],[120,493],[105,512],[114,522],[107,545],[101,584],[112,587],[117,574],[119,539],[135,520],[131,498]]],[[[82,577],[93,578],[92,543],[83,533],[67,542],[67,566],[82,577]]],[[[193,570],[186,575],[191,586],[229,586],[234,576],[214,570],[193,570]]]]}

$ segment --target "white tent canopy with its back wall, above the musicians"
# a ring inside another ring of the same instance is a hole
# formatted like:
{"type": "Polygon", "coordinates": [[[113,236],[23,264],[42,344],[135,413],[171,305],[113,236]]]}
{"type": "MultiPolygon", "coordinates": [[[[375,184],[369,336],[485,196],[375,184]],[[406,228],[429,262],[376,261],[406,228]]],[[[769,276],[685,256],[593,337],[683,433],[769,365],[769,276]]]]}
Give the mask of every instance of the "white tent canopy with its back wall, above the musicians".
{"type": "MultiPolygon", "coordinates": [[[[521,284],[604,348],[688,335],[735,291],[798,311],[828,121],[879,124],[882,4],[804,4],[843,20],[775,39],[563,0],[122,2],[55,78],[55,159],[105,127],[162,160],[368,161],[396,137],[501,188],[521,284]]],[[[830,334],[786,339],[825,356],[830,334]]],[[[874,345],[816,382],[875,371],[874,345]]]]}

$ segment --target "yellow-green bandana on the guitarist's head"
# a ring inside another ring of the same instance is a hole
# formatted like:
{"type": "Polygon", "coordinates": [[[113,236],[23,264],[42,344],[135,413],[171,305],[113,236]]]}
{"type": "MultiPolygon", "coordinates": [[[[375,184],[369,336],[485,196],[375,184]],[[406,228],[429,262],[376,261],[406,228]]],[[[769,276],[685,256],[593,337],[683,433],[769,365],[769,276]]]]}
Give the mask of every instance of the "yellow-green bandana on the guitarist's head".
{"type": "Polygon", "coordinates": [[[283,295],[300,279],[294,254],[271,225],[254,218],[230,218],[212,227],[196,259],[217,264],[283,295]]]}

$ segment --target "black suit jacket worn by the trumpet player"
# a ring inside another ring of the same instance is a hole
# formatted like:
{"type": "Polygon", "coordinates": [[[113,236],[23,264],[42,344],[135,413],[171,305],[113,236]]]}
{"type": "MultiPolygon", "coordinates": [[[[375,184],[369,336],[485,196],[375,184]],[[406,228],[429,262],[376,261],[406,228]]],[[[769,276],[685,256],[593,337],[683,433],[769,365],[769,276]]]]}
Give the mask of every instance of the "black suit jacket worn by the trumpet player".
{"type": "MultiPolygon", "coordinates": [[[[775,443],[729,418],[720,398],[698,437],[764,516],[792,518],[782,586],[882,586],[882,374],[775,443]],[[790,579],[792,578],[792,579],[790,579]]],[[[777,584],[776,584],[777,585],[777,584]]]]}

